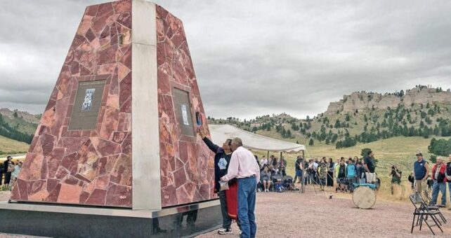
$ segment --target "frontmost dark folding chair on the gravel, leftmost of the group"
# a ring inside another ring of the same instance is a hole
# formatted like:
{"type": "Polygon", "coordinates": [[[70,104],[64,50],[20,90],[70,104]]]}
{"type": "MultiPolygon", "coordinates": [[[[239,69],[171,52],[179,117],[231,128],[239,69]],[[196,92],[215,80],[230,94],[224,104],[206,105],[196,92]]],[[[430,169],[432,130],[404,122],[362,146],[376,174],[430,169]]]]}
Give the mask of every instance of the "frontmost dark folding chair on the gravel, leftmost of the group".
{"type": "Polygon", "coordinates": [[[413,213],[414,217],[413,217],[413,221],[412,221],[412,228],[410,230],[410,233],[413,233],[413,228],[419,226],[419,230],[421,230],[421,227],[423,225],[423,221],[424,223],[426,223],[426,225],[428,226],[429,230],[431,230],[433,235],[436,235],[435,232],[433,232],[432,227],[433,226],[437,226],[438,229],[440,229],[440,231],[443,233],[442,228],[440,227],[440,221],[438,221],[438,218],[436,217],[436,215],[438,214],[438,211],[429,211],[427,209],[426,206],[424,206],[425,204],[423,202],[421,202],[421,204],[419,205],[419,207],[417,206],[417,202],[416,202],[416,198],[415,195],[410,195],[409,196],[410,202],[412,202],[412,204],[415,207],[415,211],[413,213]],[[436,225],[429,225],[427,218],[431,217],[432,221],[434,223],[436,223],[436,225]],[[417,218],[417,223],[415,223],[415,218],[417,218]]]}

